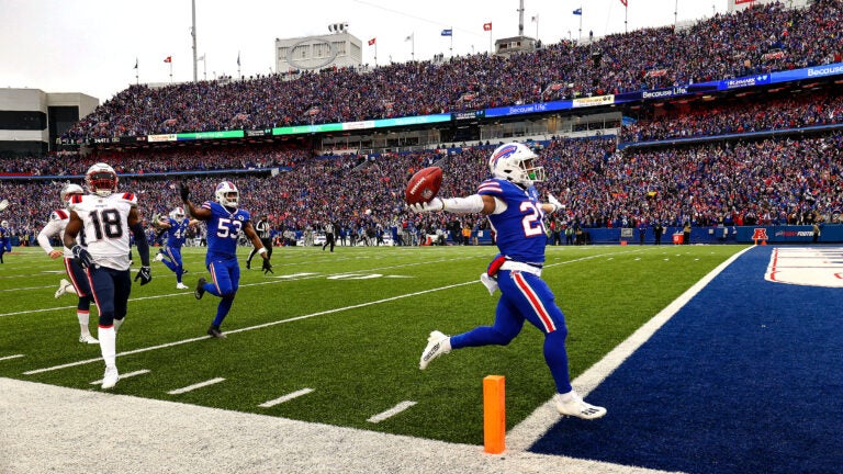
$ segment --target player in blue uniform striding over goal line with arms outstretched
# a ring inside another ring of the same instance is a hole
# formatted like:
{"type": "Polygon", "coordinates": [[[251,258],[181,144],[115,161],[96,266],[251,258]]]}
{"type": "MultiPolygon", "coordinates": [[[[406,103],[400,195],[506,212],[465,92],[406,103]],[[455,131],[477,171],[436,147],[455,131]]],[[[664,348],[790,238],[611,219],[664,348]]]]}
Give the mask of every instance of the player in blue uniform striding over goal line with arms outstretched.
{"type": "Polygon", "coordinates": [[[483,181],[476,194],[468,198],[434,198],[411,205],[416,212],[447,211],[457,214],[482,213],[496,234],[501,253],[481,281],[491,293],[501,289],[493,326],[477,326],[457,336],[430,332],[419,368],[453,349],[477,346],[506,346],[528,320],[544,334],[544,361],[557,387],[557,410],[584,419],[606,415],[606,408],[585,403],[571,386],[565,351],[565,317],[555,304],[550,287],[541,280],[547,234],[543,216],[564,208],[552,195],[540,203],[535,183],[544,179],[538,156],[517,143],[497,147],[488,160],[492,178],[483,181]]]}

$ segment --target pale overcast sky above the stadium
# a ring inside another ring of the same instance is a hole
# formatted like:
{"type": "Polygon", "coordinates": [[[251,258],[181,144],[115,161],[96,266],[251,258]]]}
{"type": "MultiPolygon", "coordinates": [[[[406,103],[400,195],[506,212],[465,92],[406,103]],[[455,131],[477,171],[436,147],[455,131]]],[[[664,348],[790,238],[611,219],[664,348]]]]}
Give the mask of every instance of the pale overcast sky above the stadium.
{"type": "MultiPolygon", "coordinates": [[[[519,0],[195,0],[199,79],[274,71],[274,40],[326,35],[348,23],[363,63],[486,52],[518,34],[519,0]],[[441,36],[452,29],[453,36],[441,36]],[[413,34],[414,42],[405,38],[413,34]]],[[[710,18],[727,0],[629,0],[629,31],[710,18]],[[676,12],[676,15],[674,15],[676,12]]],[[[620,0],[524,0],[524,32],[544,43],[625,31],[620,0]],[[582,5],[583,14],[573,11],[582,5]],[[538,22],[531,21],[538,16],[538,22]]],[[[100,103],[137,80],[193,79],[191,0],[0,0],[0,87],[82,92],[100,103]],[[130,8],[130,5],[132,5],[130,8]],[[137,61],[137,70],[134,68],[137,61]]]]}

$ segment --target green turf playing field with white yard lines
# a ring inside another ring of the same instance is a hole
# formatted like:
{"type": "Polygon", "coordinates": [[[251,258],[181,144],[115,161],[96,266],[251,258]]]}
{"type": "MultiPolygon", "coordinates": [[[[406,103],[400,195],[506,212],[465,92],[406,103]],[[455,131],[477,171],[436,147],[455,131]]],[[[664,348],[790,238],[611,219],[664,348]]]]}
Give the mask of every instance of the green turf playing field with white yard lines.
{"type": "MultiPolygon", "coordinates": [[[[572,379],[743,248],[548,247],[543,278],[566,315],[572,379]]],[[[270,275],[246,270],[248,250],[226,339],[205,336],[218,300],[192,292],[207,276],[204,249],[183,251],[190,291],[153,262],[117,336],[114,393],[471,444],[483,443],[484,376],[506,377],[507,428],[554,393],[529,324],[507,347],[418,370],[431,330],[492,324],[497,297],[477,280],[492,247],[276,248],[270,275]]],[[[54,297],[60,262],[32,248],[4,259],[0,376],[99,391],[100,349],[78,342],[76,296],[54,297]]],[[[95,324],[92,308],[94,336],[95,324]]]]}

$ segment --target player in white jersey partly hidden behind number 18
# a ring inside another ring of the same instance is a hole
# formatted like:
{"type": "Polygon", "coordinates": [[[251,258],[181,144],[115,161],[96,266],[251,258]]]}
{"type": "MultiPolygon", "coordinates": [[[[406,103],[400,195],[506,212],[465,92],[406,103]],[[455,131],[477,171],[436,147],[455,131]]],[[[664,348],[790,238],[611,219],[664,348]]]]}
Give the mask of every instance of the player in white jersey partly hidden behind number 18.
{"type": "Polygon", "coordinates": [[[88,329],[91,309],[91,286],[88,283],[88,275],[86,275],[85,270],[79,267],[79,262],[74,259],[74,253],[70,249],[64,246],[65,228],[67,227],[67,223],[70,222],[70,213],[67,211],[67,207],[70,205],[70,199],[72,196],[81,196],[82,194],[85,194],[85,191],[79,184],[65,184],[65,187],[61,188],[61,193],[59,195],[61,202],[65,204],[65,208],[55,210],[49,213],[49,219],[38,233],[37,240],[41,248],[47,252],[49,258],[57,259],[64,256],[65,272],[70,281],[61,279],[61,281],[58,282],[58,290],[56,290],[55,296],[60,297],[63,294],[69,293],[79,297],[79,302],[76,304],[76,317],[79,319],[80,328],[79,342],[94,345],[99,343],[99,341],[91,336],[91,332],[88,329]],[[64,251],[54,249],[49,244],[49,239],[56,236],[61,239],[61,249],[64,251]]]}

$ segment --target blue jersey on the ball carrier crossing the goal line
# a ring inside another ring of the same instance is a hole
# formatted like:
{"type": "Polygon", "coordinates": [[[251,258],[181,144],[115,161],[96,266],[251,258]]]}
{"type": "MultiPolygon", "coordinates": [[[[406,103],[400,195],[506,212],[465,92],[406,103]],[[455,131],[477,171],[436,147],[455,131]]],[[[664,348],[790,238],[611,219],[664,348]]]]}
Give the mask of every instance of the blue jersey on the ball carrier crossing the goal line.
{"type": "Polygon", "coordinates": [[[509,181],[492,178],[480,184],[477,194],[506,203],[506,211],[487,216],[501,253],[512,260],[541,266],[548,236],[536,188],[525,190],[509,181]]]}

